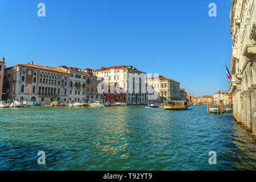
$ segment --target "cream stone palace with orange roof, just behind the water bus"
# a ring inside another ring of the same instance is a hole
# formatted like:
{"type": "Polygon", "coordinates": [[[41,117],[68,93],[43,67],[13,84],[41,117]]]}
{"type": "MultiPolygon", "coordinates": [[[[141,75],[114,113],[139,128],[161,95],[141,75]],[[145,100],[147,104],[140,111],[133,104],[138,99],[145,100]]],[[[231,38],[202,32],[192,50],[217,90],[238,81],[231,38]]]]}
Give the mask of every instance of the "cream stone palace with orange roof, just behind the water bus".
{"type": "Polygon", "coordinates": [[[156,92],[159,92],[160,102],[181,100],[179,82],[160,75],[147,77],[146,81],[155,88],[156,92]]]}

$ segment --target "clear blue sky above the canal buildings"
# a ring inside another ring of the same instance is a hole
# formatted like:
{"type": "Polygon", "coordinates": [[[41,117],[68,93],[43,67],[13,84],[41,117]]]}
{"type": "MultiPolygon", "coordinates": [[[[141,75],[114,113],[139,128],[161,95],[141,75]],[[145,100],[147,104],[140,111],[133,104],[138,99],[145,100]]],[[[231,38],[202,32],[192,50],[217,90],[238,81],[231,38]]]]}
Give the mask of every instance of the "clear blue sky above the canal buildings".
{"type": "Polygon", "coordinates": [[[7,67],[133,65],[181,82],[194,96],[228,92],[230,1],[81,0],[0,2],[0,56],[7,67]],[[46,17],[37,15],[38,3],[46,17]],[[208,16],[216,3],[217,17],[208,16]]]}

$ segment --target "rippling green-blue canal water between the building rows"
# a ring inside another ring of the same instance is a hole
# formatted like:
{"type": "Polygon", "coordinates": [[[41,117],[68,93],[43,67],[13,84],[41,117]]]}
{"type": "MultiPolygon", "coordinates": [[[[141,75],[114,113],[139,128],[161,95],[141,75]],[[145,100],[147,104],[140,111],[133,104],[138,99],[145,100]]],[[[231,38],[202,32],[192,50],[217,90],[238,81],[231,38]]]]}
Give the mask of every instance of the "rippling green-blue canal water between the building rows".
{"type": "Polygon", "coordinates": [[[231,114],[206,106],[0,109],[0,170],[242,169],[256,169],[254,139],[231,114]]]}

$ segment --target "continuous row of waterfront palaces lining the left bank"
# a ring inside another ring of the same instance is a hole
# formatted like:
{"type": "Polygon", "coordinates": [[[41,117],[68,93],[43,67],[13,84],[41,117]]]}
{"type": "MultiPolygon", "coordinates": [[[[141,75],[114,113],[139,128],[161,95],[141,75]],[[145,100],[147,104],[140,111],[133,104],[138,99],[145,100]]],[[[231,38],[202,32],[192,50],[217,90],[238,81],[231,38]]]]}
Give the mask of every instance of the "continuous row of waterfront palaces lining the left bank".
{"type": "MultiPolygon", "coordinates": [[[[146,73],[133,66],[80,69],[27,64],[5,66],[0,60],[0,100],[51,102],[125,102],[131,105],[187,101],[180,82],[146,73]]],[[[191,94],[192,96],[192,94],[191,94]]],[[[191,97],[189,97],[191,102],[191,97]]]]}

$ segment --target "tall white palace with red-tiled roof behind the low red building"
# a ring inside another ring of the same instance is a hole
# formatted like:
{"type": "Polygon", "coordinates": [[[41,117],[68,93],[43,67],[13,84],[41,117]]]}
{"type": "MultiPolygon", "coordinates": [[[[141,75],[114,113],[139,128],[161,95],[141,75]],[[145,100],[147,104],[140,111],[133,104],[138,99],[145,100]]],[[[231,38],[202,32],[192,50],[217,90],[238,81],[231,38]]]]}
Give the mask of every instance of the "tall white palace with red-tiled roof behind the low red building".
{"type": "Polygon", "coordinates": [[[142,105],[146,101],[145,73],[133,66],[101,67],[92,71],[95,76],[102,77],[105,83],[117,82],[125,93],[125,103],[142,105]]]}

